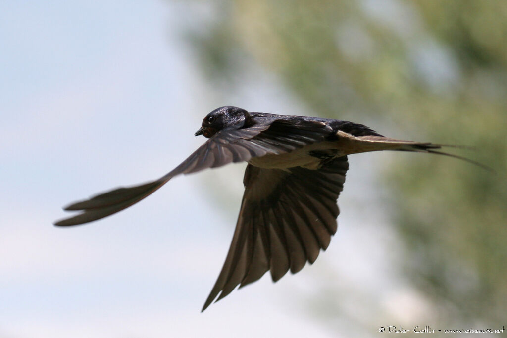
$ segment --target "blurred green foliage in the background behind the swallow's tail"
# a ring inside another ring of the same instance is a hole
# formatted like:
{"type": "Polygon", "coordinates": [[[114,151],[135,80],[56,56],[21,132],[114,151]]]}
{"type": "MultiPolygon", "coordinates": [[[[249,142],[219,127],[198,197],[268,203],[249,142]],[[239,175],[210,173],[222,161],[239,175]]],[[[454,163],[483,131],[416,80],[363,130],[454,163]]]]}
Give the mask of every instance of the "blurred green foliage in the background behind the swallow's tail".
{"type": "Polygon", "coordinates": [[[314,116],[382,121],[395,131],[379,132],[392,137],[477,148],[464,155],[496,174],[399,156],[379,175],[405,242],[404,274],[432,299],[434,318],[505,324],[507,2],[211,3],[200,3],[212,15],[190,36],[224,90],[247,85],[243,70],[255,63],[314,116]]]}

